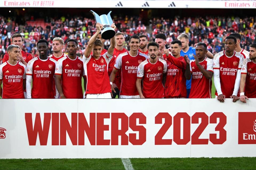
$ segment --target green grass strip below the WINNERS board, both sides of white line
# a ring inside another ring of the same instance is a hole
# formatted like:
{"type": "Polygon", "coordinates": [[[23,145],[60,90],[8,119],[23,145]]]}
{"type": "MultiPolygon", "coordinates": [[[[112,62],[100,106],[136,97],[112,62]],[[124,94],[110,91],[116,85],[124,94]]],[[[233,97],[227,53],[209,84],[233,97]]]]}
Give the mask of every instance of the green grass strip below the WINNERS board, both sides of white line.
{"type": "MultiPolygon", "coordinates": [[[[256,169],[256,157],[132,158],[139,169],[256,169]]],[[[115,159],[0,159],[0,169],[125,169],[115,159]]]]}

